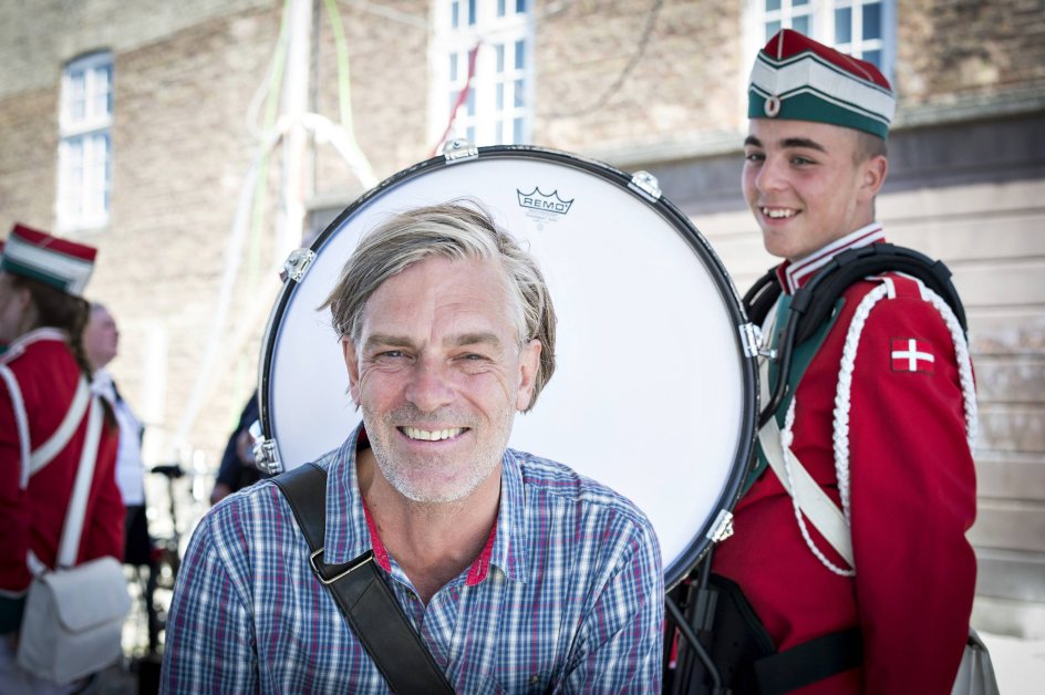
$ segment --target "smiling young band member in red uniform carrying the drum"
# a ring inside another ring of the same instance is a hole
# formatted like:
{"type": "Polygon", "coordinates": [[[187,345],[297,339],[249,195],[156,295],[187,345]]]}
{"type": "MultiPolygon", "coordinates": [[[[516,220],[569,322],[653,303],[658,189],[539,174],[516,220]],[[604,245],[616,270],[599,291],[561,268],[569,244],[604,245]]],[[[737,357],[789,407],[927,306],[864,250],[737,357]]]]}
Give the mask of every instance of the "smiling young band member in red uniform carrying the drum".
{"type": "MultiPolygon", "coordinates": [[[[884,241],[875,198],[896,96],[875,65],[791,30],[759,52],[748,95],[744,195],[766,249],[784,259],[773,322],[829,259],[884,241]]],[[[850,652],[784,689],[950,693],[976,573],[965,540],[976,507],[975,394],[954,313],[907,276],[857,281],[798,345],[786,378],[714,572],[739,588],[779,653],[822,647],[791,652],[793,666],[850,652]],[[784,475],[767,465],[768,448],[784,475]],[[799,468],[836,508],[834,544],[785,487],[799,468]]]]}

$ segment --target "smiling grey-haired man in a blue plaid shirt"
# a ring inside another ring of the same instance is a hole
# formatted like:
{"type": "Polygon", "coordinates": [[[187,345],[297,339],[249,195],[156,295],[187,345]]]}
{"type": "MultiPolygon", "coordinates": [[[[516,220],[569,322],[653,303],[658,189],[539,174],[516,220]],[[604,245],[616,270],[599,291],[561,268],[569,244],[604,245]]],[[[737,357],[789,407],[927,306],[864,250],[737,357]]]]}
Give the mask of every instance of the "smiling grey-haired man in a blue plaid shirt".
{"type": "MultiPolygon", "coordinates": [[[[649,521],[507,448],[555,370],[534,260],[473,206],[420,208],[360,241],[327,304],[363,423],[317,461],[322,562],[372,552],[458,693],[659,692],[649,521]]],[[[389,691],[272,481],[223,500],[194,535],[163,674],[168,693],[389,691]]]]}

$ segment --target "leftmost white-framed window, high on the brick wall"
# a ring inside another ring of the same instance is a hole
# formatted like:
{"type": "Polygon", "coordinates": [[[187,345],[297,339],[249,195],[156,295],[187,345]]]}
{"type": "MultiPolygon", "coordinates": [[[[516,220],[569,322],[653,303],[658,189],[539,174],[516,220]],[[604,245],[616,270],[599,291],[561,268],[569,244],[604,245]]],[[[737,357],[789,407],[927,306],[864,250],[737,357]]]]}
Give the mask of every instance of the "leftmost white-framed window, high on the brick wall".
{"type": "Polygon", "coordinates": [[[92,53],[65,66],[59,114],[58,225],[108,224],[112,184],[113,60],[92,53]]]}

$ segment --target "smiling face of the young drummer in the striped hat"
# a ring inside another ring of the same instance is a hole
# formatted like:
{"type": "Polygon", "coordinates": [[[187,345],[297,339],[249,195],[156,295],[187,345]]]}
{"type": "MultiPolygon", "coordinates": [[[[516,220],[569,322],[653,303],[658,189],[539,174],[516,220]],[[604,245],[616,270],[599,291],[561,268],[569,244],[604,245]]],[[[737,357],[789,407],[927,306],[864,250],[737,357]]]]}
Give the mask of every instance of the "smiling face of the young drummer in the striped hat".
{"type": "Polygon", "coordinates": [[[753,118],[744,144],[744,197],[766,250],[800,260],[875,221],[884,157],[858,164],[855,131],[753,118]]]}

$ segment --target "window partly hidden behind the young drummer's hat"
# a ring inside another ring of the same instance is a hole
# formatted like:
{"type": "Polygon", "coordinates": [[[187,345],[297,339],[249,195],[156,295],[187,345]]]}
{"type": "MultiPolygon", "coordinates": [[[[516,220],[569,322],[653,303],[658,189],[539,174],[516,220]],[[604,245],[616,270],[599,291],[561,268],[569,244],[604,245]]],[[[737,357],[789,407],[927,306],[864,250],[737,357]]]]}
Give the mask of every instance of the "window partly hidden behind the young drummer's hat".
{"type": "Polygon", "coordinates": [[[780,29],[794,29],[875,63],[890,81],[894,59],[894,0],[749,0],[754,53],[780,29]]]}

